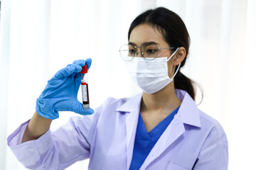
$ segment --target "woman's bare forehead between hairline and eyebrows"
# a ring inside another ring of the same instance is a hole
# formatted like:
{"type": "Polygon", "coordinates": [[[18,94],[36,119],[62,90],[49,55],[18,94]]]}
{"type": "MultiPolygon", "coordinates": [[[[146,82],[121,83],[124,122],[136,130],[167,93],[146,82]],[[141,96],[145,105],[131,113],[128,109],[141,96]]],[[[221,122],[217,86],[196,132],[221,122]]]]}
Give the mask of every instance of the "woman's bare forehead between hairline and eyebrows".
{"type": "Polygon", "coordinates": [[[156,42],[160,45],[167,45],[161,32],[149,24],[136,26],[130,34],[129,42],[139,46],[145,42],[156,42]]]}

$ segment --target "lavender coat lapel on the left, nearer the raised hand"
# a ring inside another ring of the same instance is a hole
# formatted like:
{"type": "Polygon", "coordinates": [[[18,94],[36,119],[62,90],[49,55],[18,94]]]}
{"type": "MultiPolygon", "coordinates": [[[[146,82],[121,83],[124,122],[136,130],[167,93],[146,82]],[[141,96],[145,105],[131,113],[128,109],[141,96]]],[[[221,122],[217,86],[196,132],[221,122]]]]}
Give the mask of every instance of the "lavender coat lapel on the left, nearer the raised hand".
{"type": "Polygon", "coordinates": [[[126,132],[127,132],[127,169],[132,162],[132,154],[134,149],[134,140],[137,130],[140,103],[142,101],[142,93],[129,98],[126,103],[117,108],[117,111],[126,113],[126,132]]]}

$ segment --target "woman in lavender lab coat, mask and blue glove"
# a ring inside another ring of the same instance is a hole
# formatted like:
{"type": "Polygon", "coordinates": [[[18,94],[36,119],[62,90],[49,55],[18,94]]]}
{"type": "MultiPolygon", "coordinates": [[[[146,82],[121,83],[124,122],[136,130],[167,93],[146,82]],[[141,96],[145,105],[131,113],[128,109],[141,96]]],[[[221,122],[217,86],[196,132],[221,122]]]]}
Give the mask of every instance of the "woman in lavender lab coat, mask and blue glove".
{"type": "Polygon", "coordinates": [[[181,18],[166,8],[146,11],[132,22],[128,40],[120,55],[143,93],[108,98],[95,113],[83,110],[79,72],[91,60],[68,64],[48,81],[33,118],[8,138],[24,166],[65,169],[90,158],[89,169],[228,169],[225,132],[198,110],[193,82],[179,70],[189,47],[181,18]],[[58,111],[85,116],[50,132],[58,111]]]}

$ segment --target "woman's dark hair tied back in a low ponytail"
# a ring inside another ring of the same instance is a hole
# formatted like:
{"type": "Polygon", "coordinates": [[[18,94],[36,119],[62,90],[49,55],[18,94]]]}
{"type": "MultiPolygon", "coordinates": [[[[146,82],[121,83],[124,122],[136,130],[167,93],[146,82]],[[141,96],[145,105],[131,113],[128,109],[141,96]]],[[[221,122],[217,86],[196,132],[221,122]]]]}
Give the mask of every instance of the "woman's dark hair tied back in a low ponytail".
{"type": "MultiPolygon", "coordinates": [[[[190,38],[188,30],[181,18],[173,11],[163,7],[145,11],[132,21],[128,32],[128,40],[132,30],[142,23],[149,24],[159,30],[170,47],[184,47],[186,49],[186,57],[181,62],[181,67],[183,67],[188,55],[190,38]]],[[[174,77],[175,88],[187,91],[193,100],[195,100],[196,91],[193,84],[194,82],[191,79],[188,79],[188,77],[178,70],[178,73],[174,77]]]]}

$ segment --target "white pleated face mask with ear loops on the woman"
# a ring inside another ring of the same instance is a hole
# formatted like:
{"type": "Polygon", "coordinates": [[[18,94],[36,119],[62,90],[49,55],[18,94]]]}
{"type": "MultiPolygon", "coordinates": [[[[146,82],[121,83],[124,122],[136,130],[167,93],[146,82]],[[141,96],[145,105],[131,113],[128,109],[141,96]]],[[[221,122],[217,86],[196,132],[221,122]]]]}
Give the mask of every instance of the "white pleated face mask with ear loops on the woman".
{"type": "MultiPolygon", "coordinates": [[[[177,48],[178,50],[178,48],[177,48]]],[[[177,52],[177,50],[171,55],[177,52]]],[[[132,80],[142,89],[146,94],[154,94],[156,91],[163,89],[171,81],[174,80],[181,63],[178,64],[173,77],[168,76],[167,57],[156,57],[154,60],[145,60],[143,57],[134,57],[132,61],[125,62],[128,72],[132,80]]]]}

